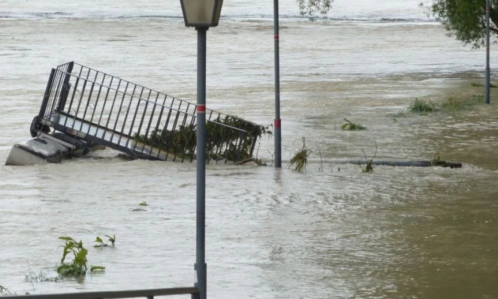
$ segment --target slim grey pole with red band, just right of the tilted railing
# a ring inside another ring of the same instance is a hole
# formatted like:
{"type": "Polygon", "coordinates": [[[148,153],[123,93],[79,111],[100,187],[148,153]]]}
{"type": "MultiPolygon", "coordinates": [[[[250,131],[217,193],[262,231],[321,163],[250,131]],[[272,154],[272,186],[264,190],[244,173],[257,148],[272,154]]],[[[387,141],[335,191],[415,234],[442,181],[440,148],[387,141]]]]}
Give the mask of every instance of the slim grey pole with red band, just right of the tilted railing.
{"type": "Polygon", "coordinates": [[[275,167],[282,167],[280,120],[280,49],[278,44],[278,0],[273,0],[273,40],[275,48],[275,167]]]}

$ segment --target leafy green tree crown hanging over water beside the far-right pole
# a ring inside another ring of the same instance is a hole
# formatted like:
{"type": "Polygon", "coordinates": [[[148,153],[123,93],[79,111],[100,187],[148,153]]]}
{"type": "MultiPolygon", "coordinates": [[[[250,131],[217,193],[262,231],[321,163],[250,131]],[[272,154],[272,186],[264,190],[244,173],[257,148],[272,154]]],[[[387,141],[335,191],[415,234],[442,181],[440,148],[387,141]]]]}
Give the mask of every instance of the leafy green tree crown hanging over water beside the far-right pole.
{"type": "MultiPolygon", "coordinates": [[[[497,36],[498,12],[494,9],[498,0],[491,0],[491,33],[497,36]]],[[[424,3],[420,3],[424,6],[424,3]]],[[[431,12],[448,31],[448,36],[475,48],[486,44],[486,0],[434,0],[430,5],[431,12]]]]}

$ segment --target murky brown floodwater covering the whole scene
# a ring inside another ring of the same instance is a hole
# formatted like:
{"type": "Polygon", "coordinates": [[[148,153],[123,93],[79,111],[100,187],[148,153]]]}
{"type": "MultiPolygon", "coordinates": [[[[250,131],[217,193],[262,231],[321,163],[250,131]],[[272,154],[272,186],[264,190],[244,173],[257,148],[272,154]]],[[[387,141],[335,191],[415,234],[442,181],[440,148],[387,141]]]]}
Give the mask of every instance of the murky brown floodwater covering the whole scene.
{"type": "MultiPolygon", "coordinates": [[[[30,138],[50,68],[67,61],[195,101],[196,34],[179,3],[75,2],[2,1],[1,164],[30,138]]],[[[262,125],[274,118],[270,2],[227,1],[208,31],[208,107],[262,125]]],[[[304,173],[207,166],[210,298],[498,298],[498,97],[492,89],[484,105],[471,85],[484,83],[485,51],[447,37],[418,2],[337,0],[328,20],[310,23],[282,1],[283,164],[302,137],[313,151],[304,173]],[[472,105],[387,116],[416,97],[472,105]],[[368,130],[342,131],[344,118],[368,130]],[[464,165],[364,174],[330,162],[371,157],[375,143],[379,159],[439,152],[464,165]]],[[[270,163],[272,150],[263,136],[258,157],[270,163]]],[[[1,286],[22,295],[192,285],[195,164],[117,154],[0,166],[1,286]],[[112,234],[115,248],[93,248],[112,234]],[[25,281],[56,276],[63,235],[106,271],[25,281]]]]}

